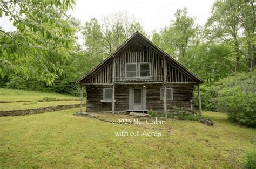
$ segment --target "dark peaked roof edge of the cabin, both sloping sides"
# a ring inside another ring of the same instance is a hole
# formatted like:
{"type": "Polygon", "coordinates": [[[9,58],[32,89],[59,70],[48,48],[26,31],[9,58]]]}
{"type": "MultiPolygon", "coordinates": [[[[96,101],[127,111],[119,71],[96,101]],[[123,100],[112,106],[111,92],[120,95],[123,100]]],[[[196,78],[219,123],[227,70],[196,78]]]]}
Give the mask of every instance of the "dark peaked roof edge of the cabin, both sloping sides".
{"type": "Polygon", "coordinates": [[[90,72],[88,72],[87,74],[85,74],[84,76],[82,76],[82,78],[80,78],[79,80],[76,81],[76,83],[83,83],[83,81],[85,81],[87,78],[90,78],[91,74],[95,71],[97,71],[98,69],[100,69],[103,65],[105,65],[106,63],[110,62],[113,60],[113,58],[120,53],[125,47],[127,47],[130,42],[134,39],[134,38],[139,38],[140,40],[144,41],[144,43],[146,43],[147,45],[151,46],[152,48],[154,48],[154,50],[158,51],[159,53],[163,54],[164,57],[166,57],[167,60],[171,61],[173,64],[177,65],[178,67],[180,67],[181,69],[183,69],[183,71],[187,72],[188,74],[190,74],[191,76],[194,77],[194,79],[198,80],[198,83],[203,83],[204,80],[199,78],[199,76],[197,76],[196,74],[194,74],[193,72],[191,72],[188,68],[186,68],[185,66],[181,65],[177,60],[173,59],[169,54],[167,54],[166,52],[164,52],[163,50],[161,50],[161,48],[159,48],[157,45],[153,44],[149,39],[147,39],[143,34],[139,33],[138,31],[135,32],[129,39],[127,39],[125,41],[125,43],[121,46],[119,46],[117,48],[116,51],[114,51],[112,54],[109,55],[109,57],[107,57],[105,60],[103,60],[102,62],[100,62],[95,68],[91,69],[90,72]]]}

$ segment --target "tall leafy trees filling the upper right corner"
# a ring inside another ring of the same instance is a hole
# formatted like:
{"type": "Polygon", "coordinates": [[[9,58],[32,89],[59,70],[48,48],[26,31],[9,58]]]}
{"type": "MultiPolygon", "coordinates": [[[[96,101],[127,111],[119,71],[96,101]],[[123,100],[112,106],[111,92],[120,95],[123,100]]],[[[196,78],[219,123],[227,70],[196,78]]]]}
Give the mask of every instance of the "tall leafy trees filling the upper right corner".
{"type": "MultiPolygon", "coordinates": [[[[215,1],[212,16],[205,25],[206,35],[233,48],[235,69],[255,68],[254,1],[215,1]],[[225,19],[223,18],[225,16],[225,19]],[[241,37],[243,32],[244,37],[241,37]],[[247,61],[249,60],[249,61],[247,61]]],[[[248,70],[248,69],[247,69],[248,70]]]]}

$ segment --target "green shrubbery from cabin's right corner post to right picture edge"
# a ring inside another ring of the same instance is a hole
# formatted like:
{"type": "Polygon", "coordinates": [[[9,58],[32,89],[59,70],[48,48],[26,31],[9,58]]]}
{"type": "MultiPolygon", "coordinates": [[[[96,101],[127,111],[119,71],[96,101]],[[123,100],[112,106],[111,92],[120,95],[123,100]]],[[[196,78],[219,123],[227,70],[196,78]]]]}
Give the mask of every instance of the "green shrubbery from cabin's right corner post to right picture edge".
{"type": "Polygon", "coordinates": [[[212,86],[202,86],[202,107],[206,110],[226,112],[230,121],[255,128],[255,82],[256,71],[252,74],[237,73],[212,86]]]}

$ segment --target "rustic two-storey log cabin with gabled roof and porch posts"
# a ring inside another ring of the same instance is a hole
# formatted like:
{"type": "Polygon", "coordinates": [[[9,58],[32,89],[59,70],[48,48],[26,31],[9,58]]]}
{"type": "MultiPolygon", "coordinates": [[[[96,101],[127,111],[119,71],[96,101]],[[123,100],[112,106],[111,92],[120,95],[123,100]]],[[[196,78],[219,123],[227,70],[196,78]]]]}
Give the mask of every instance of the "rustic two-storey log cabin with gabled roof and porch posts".
{"type": "Polygon", "coordinates": [[[115,52],[80,78],[81,107],[87,112],[194,112],[194,86],[204,80],[136,32],[115,52]]]}

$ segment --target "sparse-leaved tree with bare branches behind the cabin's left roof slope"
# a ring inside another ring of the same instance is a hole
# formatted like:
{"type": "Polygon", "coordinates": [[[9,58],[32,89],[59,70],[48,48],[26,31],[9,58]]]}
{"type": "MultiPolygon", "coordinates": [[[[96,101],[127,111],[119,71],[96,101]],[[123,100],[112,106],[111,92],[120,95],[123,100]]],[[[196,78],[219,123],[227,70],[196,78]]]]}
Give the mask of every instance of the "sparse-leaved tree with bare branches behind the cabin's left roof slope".
{"type": "Polygon", "coordinates": [[[93,18],[84,26],[85,46],[87,51],[106,57],[136,31],[145,34],[140,23],[127,12],[106,15],[101,24],[93,18]]]}

